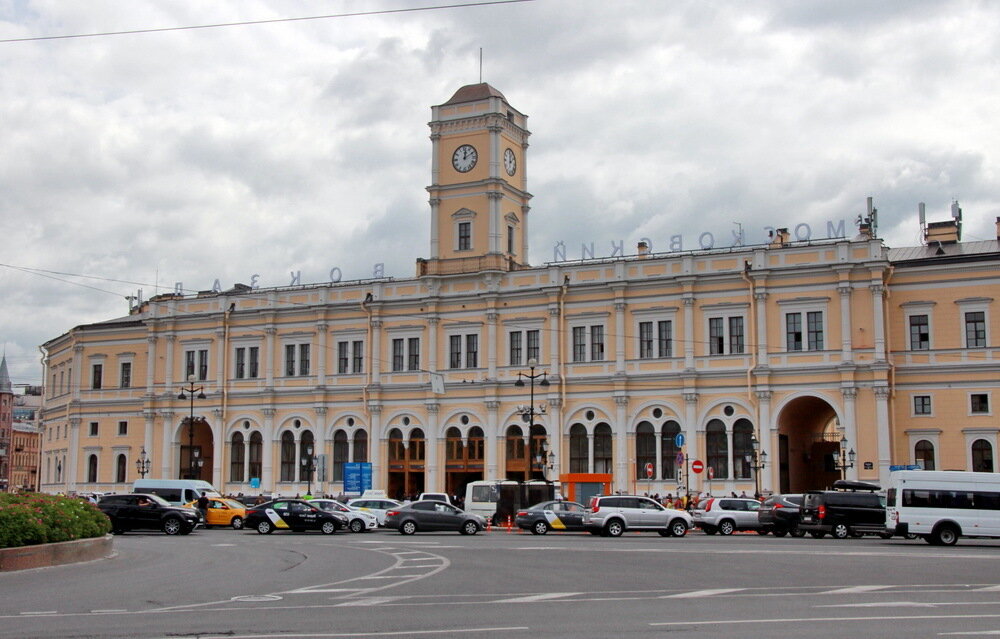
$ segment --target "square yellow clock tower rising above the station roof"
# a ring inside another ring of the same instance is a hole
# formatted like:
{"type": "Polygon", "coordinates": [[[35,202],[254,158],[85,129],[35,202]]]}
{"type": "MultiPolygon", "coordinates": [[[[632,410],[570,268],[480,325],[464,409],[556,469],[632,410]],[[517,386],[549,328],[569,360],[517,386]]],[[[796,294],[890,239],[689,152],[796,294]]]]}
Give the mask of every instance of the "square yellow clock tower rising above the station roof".
{"type": "Polygon", "coordinates": [[[431,255],[418,275],[527,265],[527,120],[486,83],[431,107],[431,255]]]}

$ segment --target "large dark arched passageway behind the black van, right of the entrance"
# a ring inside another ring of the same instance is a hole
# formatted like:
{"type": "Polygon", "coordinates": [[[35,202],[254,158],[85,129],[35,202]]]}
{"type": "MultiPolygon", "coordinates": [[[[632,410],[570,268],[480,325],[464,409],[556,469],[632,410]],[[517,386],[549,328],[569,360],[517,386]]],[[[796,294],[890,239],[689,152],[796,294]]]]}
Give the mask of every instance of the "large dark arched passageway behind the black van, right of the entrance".
{"type": "Polygon", "coordinates": [[[819,397],[799,397],[785,405],[778,416],[781,492],[823,489],[840,479],[836,460],[841,436],[836,412],[819,397]]]}

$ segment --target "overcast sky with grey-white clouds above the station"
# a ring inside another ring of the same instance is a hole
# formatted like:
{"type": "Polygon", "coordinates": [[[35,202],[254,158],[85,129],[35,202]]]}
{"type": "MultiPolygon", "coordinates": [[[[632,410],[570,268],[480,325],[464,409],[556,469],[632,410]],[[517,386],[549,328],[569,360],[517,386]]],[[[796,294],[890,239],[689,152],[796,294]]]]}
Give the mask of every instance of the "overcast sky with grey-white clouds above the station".
{"type": "Polygon", "coordinates": [[[435,4],[0,0],[13,381],[40,383],[39,344],[138,288],[411,277],[430,107],[479,81],[480,48],[529,115],[533,264],[558,241],[571,259],[728,245],[736,223],[748,243],[853,234],[868,196],[890,246],[919,243],[921,201],[935,221],[958,199],[964,239],[995,238],[1000,3],[458,1],[31,39],[435,4]]]}

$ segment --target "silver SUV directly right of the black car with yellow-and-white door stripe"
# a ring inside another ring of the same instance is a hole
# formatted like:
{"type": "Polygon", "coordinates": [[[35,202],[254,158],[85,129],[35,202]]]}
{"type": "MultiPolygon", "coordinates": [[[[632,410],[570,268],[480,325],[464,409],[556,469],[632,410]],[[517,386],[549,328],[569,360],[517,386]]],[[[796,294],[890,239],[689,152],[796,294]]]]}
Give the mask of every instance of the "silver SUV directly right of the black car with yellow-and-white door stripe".
{"type": "Polygon", "coordinates": [[[661,537],[683,537],[694,524],[683,510],[665,508],[649,497],[597,495],[583,515],[591,534],[620,537],[626,530],[656,531],[661,537]]]}

